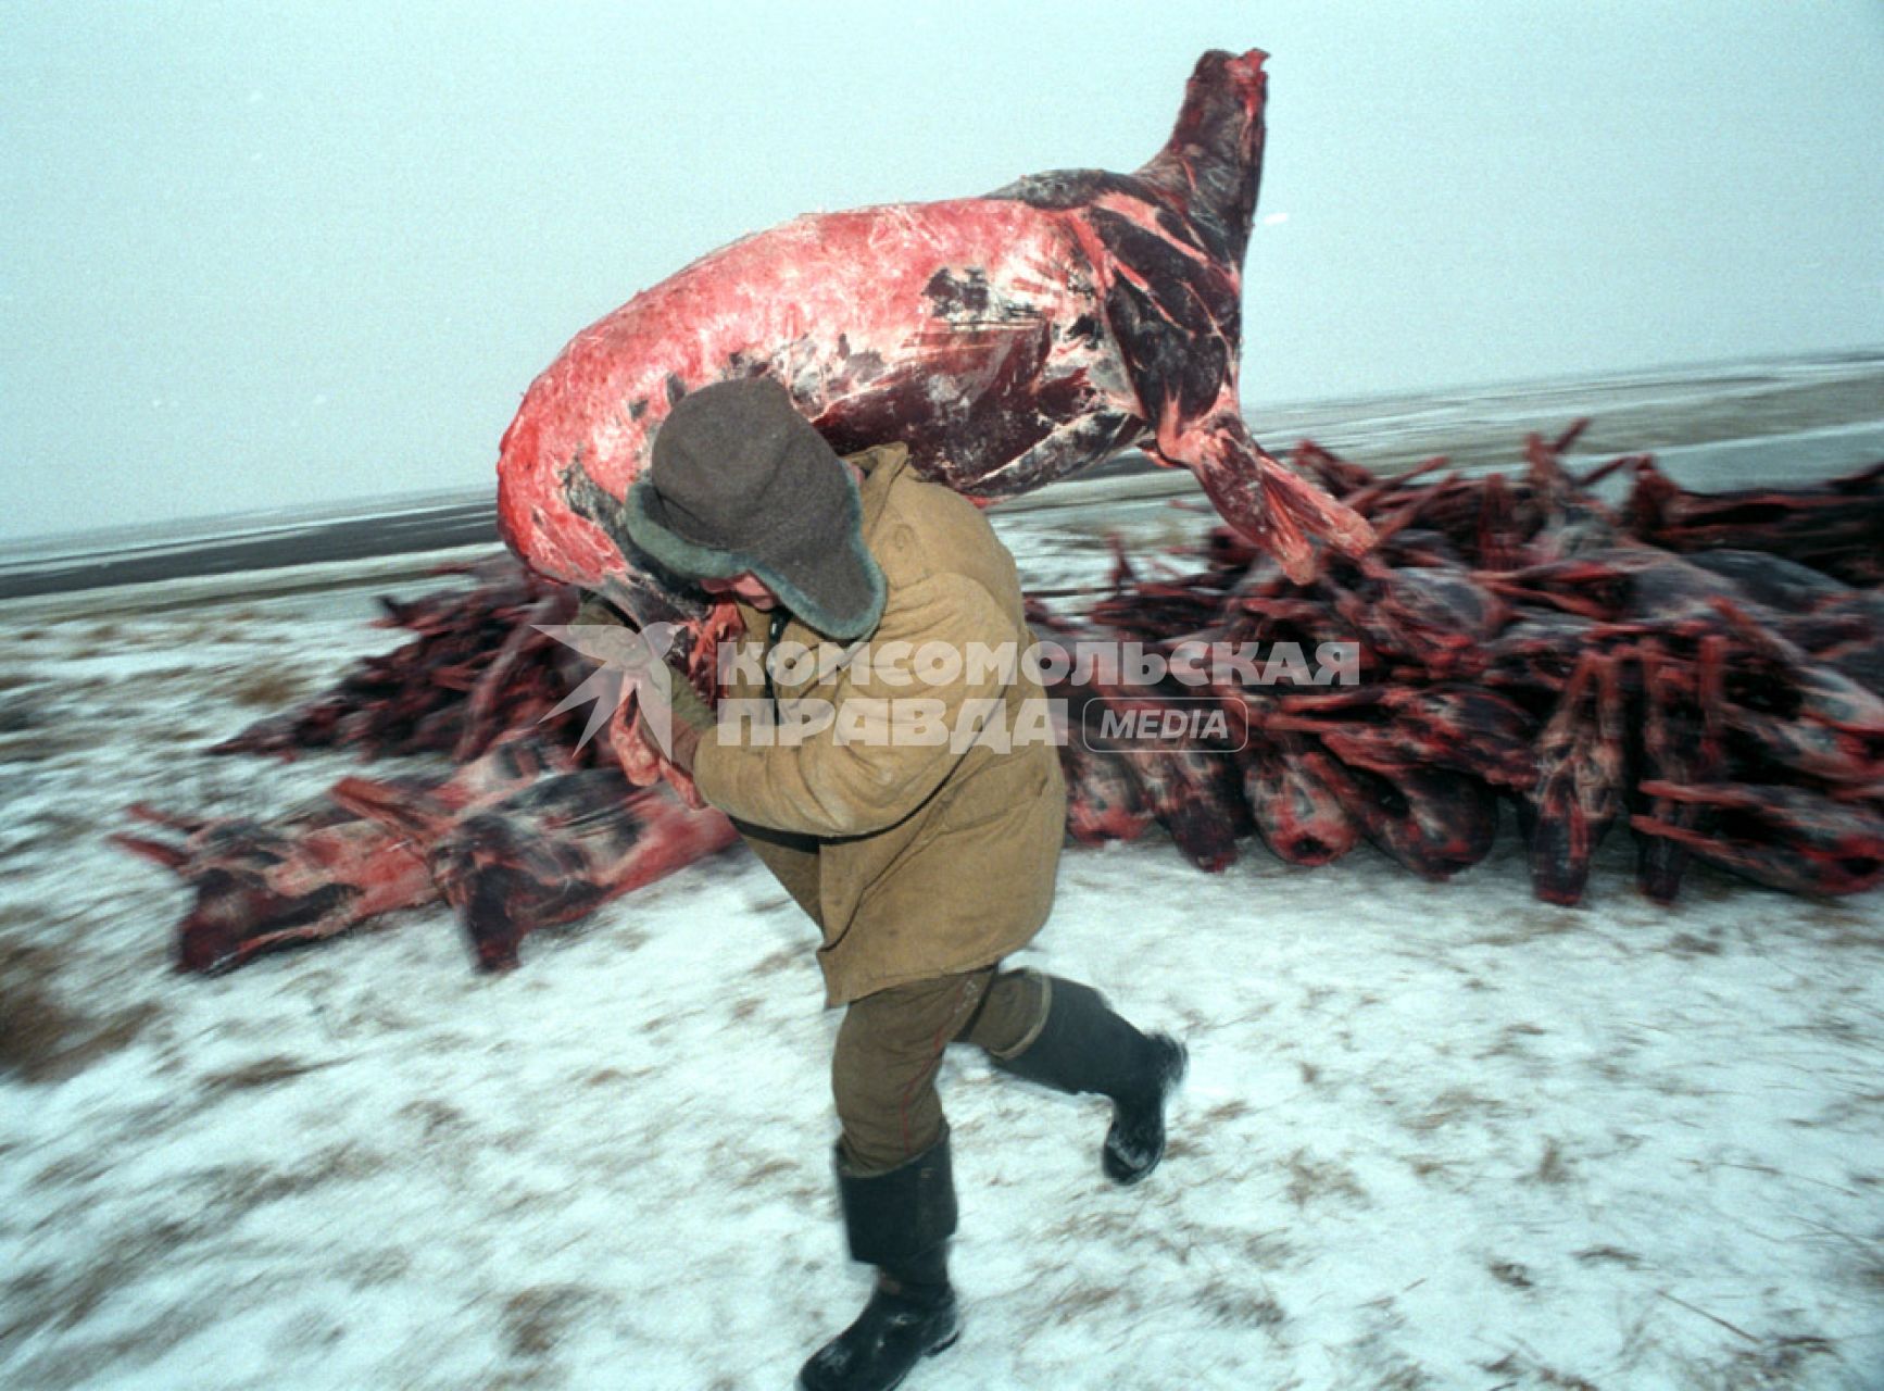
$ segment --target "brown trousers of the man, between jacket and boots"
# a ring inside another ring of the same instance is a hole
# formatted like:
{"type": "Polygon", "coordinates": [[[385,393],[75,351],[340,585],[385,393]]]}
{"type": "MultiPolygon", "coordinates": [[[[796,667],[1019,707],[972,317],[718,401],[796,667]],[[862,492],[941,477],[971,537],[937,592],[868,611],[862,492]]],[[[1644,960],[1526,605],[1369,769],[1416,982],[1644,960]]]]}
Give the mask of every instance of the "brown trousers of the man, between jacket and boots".
{"type": "Polygon", "coordinates": [[[1048,1003],[1044,976],[999,967],[852,1001],[831,1057],[846,1167],[887,1172],[940,1140],[942,1050],[970,1042],[993,1057],[1014,1057],[1040,1035],[1048,1003]]]}

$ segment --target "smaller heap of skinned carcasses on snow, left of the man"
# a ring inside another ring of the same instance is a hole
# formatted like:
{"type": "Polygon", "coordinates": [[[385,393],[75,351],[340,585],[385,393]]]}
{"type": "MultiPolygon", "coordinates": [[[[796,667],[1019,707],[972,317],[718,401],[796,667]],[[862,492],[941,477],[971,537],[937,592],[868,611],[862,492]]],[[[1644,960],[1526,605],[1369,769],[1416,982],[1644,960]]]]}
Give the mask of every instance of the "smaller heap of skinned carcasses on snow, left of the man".
{"type": "Polygon", "coordinates": [[[431,754],[430,775],[343,777],[273,822],[130,809],[145,829],[113,839],[194,893],[177,925],[179,967],[228,971],[443,899],[477,963],[507,969],[537,927],[584,918],[737,839],[716,810],[629,786],[607,741],[580,739],[590,703],[569,694],[592,665],[541,630],[577,616],[575,590],[511,558],[443,573],[471,586],[382,599],[381,622],[414,637],[211,750],[431,754]]]}

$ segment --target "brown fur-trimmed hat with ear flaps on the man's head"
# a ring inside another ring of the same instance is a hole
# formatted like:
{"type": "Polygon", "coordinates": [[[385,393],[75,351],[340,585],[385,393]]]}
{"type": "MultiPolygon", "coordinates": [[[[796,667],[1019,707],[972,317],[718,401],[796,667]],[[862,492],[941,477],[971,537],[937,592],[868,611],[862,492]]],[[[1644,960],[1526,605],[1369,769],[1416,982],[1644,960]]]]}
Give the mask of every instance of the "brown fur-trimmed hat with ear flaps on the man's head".
{"type": "Polygon", "coordinates": [[[654,434],[622,522],[676,575],[750,569],[825,637],[867,637],[884,616],[887,586],[863,545],[857,481],[771,377],[682,396],[654,434]]]}

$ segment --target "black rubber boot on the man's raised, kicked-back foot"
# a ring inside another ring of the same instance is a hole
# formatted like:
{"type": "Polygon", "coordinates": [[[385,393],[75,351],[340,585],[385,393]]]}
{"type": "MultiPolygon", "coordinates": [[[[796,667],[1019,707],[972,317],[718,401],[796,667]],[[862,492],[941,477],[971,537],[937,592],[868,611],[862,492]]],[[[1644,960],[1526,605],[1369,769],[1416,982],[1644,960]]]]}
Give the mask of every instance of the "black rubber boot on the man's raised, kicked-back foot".
{"type": "Polygon", "coordinates": [[[995,1067],[1059,1091],[1112,1097],[1100,1165],[1113,1184],[1136,1184],[1164,1157],[1164,1101],[1183,1080],[1185,1046],[1142,1035],[1078,980],[1046,976],[1048,1018],[1038,1037],[995,1067]]]}

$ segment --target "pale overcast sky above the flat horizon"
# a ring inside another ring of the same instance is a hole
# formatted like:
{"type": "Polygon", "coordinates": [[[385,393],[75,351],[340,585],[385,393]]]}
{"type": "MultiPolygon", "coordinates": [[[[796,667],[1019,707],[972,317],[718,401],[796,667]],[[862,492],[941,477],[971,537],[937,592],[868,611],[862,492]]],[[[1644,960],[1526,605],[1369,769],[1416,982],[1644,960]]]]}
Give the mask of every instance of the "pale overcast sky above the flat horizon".
{"type": "Polygon", "coordinates": [[[0,537],[494,481],[812,209],[1130,170],[1272,53],[1243,401],[1884,343],[1884,4],[0,0],[0,537]]]}

